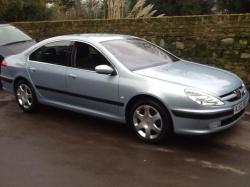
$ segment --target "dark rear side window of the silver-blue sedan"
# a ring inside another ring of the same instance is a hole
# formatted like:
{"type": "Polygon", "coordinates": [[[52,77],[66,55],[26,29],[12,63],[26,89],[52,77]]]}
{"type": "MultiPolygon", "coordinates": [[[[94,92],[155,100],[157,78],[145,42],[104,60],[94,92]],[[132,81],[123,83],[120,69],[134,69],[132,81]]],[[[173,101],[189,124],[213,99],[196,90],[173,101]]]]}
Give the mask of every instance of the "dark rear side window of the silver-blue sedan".
{"type": "Polygon", "coordinates": [[[71,41],[49,43],[30,55],[30,60],[67,66],[71,53],[71,41]]]}

